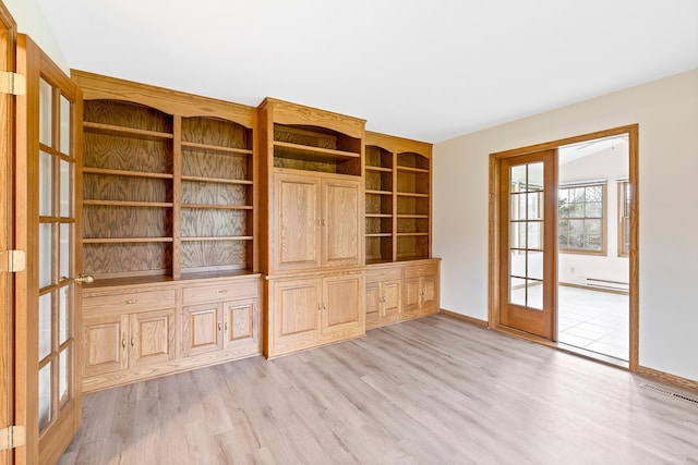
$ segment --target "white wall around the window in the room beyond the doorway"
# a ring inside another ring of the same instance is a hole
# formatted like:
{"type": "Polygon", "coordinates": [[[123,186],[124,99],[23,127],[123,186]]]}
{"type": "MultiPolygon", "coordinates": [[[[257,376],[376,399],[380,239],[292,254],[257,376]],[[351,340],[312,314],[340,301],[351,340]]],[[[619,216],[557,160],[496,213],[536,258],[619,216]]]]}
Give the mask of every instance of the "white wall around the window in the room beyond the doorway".
{"type": "Polygon", "coordinates": [[[563,163],[566,151],[559,151],[559,183],[605,179],[606,182],[606,254],[565,254],[557,257],[557,279],[570,284],[587,283],[587,278],[629,282],[627,257],[618,257],[618,178],[628,176],[627,142],[605,148],[593,155],[563,163]]]}

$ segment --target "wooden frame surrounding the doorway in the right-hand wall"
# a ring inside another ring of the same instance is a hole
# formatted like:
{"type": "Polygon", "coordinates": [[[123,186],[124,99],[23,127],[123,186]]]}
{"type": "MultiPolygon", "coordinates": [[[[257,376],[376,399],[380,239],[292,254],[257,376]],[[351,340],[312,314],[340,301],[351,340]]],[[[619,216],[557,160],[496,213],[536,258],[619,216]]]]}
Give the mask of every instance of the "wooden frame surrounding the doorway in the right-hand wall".
{"type": "Polygon", "coordinates": [[[605,131],[582,134],[579,136],[546,142],[513,150],[490,154],[490,212],[489,212],[489,290],[488,290],[488,313],[489,328],[512,333],[531,341],[557,347],[557,343],[543,338],[535,338],[507,329],[500,323],[500,264],[502,260],[500,246],[500,197],[501,197],[501,172],[502,160],[518,157],[535,151],[557,149],[569,144],[577,144],[597,138],[611,137],[622,134],[628,135],[629,166],[628,178],[633,196],[630,198],[630,254],[629,260],[629,336],[630,353],[628,368],[633,372],[639,367],[639,159],[638,159],[638,124],[614,127],[605,131]]]}

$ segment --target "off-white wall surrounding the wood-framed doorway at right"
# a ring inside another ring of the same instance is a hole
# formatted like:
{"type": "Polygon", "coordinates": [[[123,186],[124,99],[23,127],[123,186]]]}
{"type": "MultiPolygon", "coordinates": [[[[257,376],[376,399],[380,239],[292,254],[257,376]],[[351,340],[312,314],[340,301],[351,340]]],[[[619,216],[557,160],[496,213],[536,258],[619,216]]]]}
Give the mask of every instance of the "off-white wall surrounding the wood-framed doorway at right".
{"type": "Polygon", "coordinates": [[[433,246],[443,258],[442,307],[488,318],[490,154],[633,123],[639,123],[639,362],[698,380],[698,70],[436,144],[433,246]]]}

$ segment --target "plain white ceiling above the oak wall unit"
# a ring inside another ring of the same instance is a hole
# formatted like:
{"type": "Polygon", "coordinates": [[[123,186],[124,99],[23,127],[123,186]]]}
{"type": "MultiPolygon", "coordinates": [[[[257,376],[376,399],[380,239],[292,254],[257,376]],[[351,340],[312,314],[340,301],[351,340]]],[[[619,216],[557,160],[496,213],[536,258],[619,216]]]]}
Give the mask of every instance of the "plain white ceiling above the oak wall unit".
{"type": "Polygon", "coordinates": [[[697,0],[38,0],[71,68],[426,142],[698,68],[697,0]]]}

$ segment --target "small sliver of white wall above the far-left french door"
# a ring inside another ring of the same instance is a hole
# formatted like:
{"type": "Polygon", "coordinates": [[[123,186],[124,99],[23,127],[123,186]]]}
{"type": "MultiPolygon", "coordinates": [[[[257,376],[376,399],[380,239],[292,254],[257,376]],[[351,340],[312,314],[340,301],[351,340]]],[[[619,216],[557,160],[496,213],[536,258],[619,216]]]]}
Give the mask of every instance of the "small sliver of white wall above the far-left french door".
{"type": "Polygon", "coordinates": [[[44,12],[37,0],[2,0],[12,17],[17,23],[17,32],[32,37],[46,54],[58,64],[65,74],[70,74],[70,66],[63,52],[56,41],[53,32],[46,22],[44,12]]]}

